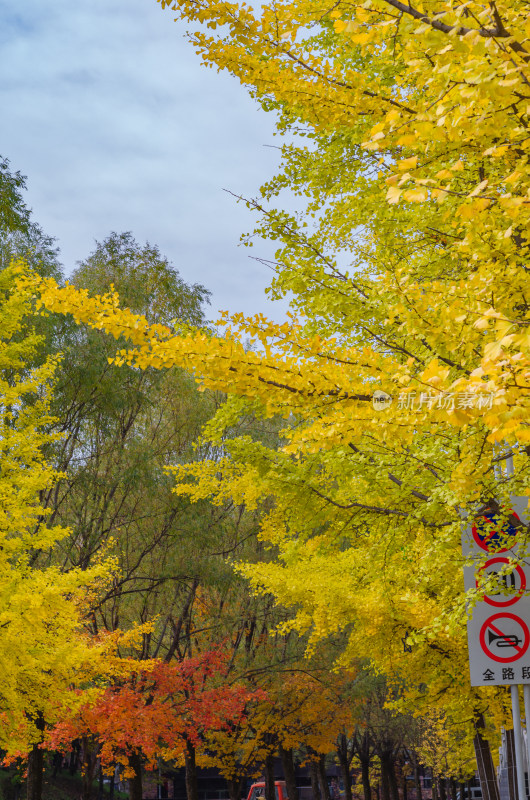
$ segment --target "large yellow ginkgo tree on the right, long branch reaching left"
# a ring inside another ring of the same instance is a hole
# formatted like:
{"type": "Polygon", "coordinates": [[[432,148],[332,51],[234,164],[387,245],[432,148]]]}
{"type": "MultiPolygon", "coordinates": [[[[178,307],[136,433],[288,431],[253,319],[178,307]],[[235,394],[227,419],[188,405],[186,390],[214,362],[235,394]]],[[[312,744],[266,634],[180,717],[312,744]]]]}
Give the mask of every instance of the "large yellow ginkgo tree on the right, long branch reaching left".
{"type": "Polygon", "coordinates": [[[280,130],[308,137],[252,204],[281,244],[272,291],[298,318],[224,317],[213,337],[149,326],[112,295],[31,285],[49,310],[126,337],[118,365],[179,365],[230,392],[205,432],[224,458],[176,469],[177,490],[266,509],[278,559],[244,568],[255,588],[312,644],[346,628],[346,661],[373,659],[473,738],[482,712],[505,709],[466,678],[461,514],[529,482],[525,6],[162,5],[280,130]],[[270,208],[283,188],[308,198],[304,215],[270,208]],[[244,414],[284,417],[283,446],[227,439],[244,414]],[[499,480],[506,451],[515,477],[499,480]]]}

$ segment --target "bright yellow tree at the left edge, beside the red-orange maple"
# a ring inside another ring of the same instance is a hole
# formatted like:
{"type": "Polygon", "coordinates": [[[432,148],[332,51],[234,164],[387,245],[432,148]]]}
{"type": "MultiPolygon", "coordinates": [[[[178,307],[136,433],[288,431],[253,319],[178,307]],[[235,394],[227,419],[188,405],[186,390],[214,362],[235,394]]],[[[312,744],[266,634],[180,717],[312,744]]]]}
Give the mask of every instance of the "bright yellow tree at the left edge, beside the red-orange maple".
{"type": "MultiPolygon", "coordinates": [[[[43,456],[49,443],[49,394],[56,362],[35,362],[31,295],[14,268],[0,272],[0,746],[32,751],[28,797],[39,796],[47,725],[75,698],[72,690],[104,672],[112,646],[89,640],[84,616],[103,587],[109,564],[69,572],[35,566],[35,555],[66,535],[46,524],[40,496],[55,471],[43,456]]],[[[33,317],[34,318],[34,317],[33,317]]]]}

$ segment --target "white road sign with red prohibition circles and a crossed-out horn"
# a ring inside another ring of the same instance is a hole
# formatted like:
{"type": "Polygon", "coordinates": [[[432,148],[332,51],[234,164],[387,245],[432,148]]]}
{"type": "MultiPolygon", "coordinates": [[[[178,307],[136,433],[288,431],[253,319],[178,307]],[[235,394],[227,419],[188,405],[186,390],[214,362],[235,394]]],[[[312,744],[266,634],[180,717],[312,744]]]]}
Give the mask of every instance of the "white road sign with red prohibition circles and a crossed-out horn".
{"type": "Polygon", "coordinates": [[[512,497],[501,511],[509,514],[502,528],[487,512],[462,536],[464,556],[474,559],[464,568],[466,590],[486,581],[467,624],[472,686],[530,683],[530,562],[510,569],[517,527],[529,524],[528,498],[512,497]]]}

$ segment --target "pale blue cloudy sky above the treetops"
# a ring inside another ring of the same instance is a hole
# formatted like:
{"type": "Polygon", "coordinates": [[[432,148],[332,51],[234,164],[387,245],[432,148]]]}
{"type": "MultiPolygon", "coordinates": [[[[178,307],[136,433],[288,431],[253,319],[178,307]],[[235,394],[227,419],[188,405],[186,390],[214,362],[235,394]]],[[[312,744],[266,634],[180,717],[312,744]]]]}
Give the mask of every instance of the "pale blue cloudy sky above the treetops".
{"type": "Polygon", "coordinates": [[[223,191],[255,196],[274,173],[273,120],[201,67],[173,17],[155,0],[0,0],[0,154],[66,273],[131,230],[210,289],[212,317],[282,319],[249,258],[272,247],[238,247],[253,215],[223,191]]]}

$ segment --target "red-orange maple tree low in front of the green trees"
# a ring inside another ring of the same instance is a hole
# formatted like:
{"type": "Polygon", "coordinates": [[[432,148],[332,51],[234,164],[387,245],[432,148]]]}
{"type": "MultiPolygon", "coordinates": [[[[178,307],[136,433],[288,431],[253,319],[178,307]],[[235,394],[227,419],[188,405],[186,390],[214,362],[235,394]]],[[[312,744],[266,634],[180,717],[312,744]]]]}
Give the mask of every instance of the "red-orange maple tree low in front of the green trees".
{"type": "Polygon", "coordinates": [[[50,731],[47,746],[61,750],[75,739],[95,741],[102,768],[124,766],[131,797],[141,797],[141,764],[194,754],[206,732],[230,729],[246,716],[261,691],[227,680],[228,655],[210,649],[141,669],[107,686],[50,731]]]}

